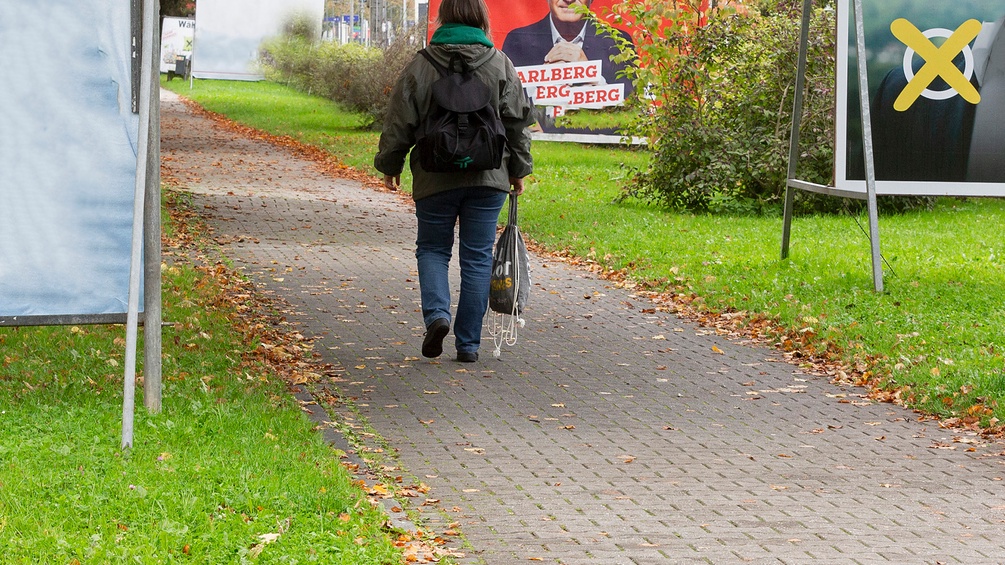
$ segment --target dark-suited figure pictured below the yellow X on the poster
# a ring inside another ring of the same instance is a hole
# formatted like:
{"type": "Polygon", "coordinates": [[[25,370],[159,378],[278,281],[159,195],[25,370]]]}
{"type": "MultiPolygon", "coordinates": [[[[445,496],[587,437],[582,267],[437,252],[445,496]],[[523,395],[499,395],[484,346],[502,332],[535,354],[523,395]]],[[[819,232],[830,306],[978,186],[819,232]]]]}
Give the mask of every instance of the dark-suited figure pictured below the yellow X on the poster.
{"type": "MultiPolygon", "coordinates": [[[[982,26],[972,62],[963,53],[954,59],[961,71],[972,65],[969,80],[980,93],[978,104],[957,92],[921,96],[909,108],[896,110],[894,104],[910,80],[902,65],[886,74],[871,104],[877,180],[1005,182],[1003,19],[982,26]]],[[[915,73],[924,62],[919,58],[915,73]]],[[[928,88],[954,92],[942,76],[928,88]]]]}

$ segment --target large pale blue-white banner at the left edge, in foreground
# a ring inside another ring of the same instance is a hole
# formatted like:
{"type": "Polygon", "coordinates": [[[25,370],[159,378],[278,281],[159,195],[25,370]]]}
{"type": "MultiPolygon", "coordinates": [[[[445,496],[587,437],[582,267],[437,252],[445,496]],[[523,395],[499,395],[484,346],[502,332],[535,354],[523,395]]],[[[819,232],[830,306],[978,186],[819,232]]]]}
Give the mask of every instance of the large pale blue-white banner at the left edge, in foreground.
{"type": "Polygon", "coordinates": [[[0,2],[0,317],[127,311],[130,3],[0,2]]]}

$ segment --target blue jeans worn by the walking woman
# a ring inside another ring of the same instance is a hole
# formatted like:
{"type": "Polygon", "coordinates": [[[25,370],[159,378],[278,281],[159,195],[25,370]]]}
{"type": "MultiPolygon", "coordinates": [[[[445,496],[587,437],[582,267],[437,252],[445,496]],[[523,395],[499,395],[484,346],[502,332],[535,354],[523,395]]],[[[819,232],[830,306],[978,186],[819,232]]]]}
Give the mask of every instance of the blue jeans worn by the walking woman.
{"type": "Polygon", "coordinates": [[[488,308],[488,278],[499,210],[507,193],[487,187],[456,188],[415,202],[418,236],[415,258],[419,267],[422,319],[428,328],[437,318],[450,321],[448,268],[453,252],[454,226],[460,228],[460,297],[453,335],[458,352],[475,352],[481,343],[481,321],[488,308]]]}

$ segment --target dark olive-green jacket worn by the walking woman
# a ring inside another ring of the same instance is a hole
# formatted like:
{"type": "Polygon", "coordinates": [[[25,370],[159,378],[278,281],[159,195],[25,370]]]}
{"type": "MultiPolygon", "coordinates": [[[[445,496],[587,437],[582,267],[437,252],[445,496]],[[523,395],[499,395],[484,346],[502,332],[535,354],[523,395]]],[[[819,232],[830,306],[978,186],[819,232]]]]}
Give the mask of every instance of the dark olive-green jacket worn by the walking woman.
{"type": "MultiPolygon", "coordinates": [[[[502,166],[492,171],[473,173],[429,173],[419,166],[412,153],[412,199],[420,200],[438,192],[470,186],[510,190],[510,178],[523,178],[534,170],[531,158],[531,133],[534,122],[531,102],[510,59],[502,51],[482,44],[430,44],[426,50],[446,66],[454,53],[476,67],[474,75],[492,87],[492,106],[498,111],[507,132],[507,151],[502,166]]],[[[374,166],[385,175],[397,176],[405,166],[405,156],[415,145],[419,123],[429,112],[432,83],[439,72],[422,55],[416,55],[405,67],[391,92],[384,128],[374,166]]]]}

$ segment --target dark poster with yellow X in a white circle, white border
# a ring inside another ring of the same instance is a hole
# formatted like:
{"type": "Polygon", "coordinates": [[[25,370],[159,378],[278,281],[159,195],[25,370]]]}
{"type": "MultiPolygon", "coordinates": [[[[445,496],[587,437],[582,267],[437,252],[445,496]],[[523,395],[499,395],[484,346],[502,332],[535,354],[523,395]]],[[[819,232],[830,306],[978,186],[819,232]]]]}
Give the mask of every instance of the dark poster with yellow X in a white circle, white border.
{"type": "MultiPolygon", "coordinates": [[[[838,2],[835,186],[864,191],[857,52],[838,2]]],[[[1005,0],[862,0],[879,194],[1005,196],[1005,0]]]]}

